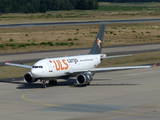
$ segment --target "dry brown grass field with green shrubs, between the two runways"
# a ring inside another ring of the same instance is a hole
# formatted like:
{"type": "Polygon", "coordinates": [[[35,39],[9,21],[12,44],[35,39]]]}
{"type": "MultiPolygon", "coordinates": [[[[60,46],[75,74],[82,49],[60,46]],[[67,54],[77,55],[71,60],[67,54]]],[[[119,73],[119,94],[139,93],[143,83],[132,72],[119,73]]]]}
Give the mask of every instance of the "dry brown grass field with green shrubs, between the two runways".
{"type": "MultiPolygon", "coordinates": [[[[91,47],[100,25],[0,29],[0,53],[91,47]]],[[[106,25],[104,46],[158,43],[160,23],[106,25]]]]}

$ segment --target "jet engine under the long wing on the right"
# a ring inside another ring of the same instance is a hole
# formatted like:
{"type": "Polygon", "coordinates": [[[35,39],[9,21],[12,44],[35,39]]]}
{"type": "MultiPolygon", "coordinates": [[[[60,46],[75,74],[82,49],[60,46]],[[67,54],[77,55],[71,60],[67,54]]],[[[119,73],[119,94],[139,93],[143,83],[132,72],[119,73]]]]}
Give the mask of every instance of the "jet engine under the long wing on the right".
{"type": "Polygon", "coordinates": [[[77,83],[80,85],[89,84],[93,80],[93,76],[90,73],[82,73],[77,76],[77,83]]]}

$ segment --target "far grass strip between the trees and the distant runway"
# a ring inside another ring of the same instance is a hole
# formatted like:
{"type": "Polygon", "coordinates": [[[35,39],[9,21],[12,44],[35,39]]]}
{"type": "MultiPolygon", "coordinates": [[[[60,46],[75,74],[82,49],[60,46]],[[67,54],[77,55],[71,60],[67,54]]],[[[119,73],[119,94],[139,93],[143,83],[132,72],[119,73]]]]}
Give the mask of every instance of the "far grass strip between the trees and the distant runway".
{"type": "Polygon", "coordinates": [[[9,13],[0,15],[0,24],[158,18],[160,3],[99,3],[97,10],[49,11],[47,13],[9,13]]]}

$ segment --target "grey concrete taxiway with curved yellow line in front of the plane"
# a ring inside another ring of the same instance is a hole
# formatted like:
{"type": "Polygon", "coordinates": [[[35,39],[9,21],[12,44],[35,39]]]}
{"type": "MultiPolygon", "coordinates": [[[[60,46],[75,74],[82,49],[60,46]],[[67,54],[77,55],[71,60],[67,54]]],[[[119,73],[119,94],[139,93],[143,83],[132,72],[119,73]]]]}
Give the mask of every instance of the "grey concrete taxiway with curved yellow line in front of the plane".
{"type": "Polygon", "coordinates": [[[90,86],[0,81],[2,120],[159,120],[160,67],[97,73],[90,86]]]}

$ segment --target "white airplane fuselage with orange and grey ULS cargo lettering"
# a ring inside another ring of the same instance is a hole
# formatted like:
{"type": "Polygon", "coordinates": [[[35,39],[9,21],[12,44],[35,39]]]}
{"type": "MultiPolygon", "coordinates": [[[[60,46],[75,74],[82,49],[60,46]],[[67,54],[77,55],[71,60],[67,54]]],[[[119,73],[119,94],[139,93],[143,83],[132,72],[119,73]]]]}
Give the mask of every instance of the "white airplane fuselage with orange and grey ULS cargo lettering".
{"type": "Polygon", "coordinates": [[[101,54],[46,58],[36,62],[31,69],[35,78],[58,78],[73,70],[95,68],[101,63],[101,54]]]}

